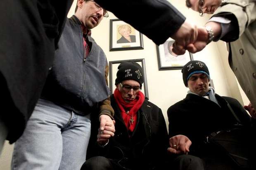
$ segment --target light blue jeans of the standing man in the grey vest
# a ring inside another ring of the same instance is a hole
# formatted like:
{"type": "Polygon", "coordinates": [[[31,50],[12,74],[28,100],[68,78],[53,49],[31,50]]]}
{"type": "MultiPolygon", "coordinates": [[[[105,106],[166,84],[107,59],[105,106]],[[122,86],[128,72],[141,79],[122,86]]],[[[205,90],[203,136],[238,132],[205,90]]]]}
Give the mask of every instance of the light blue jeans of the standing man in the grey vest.
{"type": "Polygon", "coordinates": [[[90,129],[90,114],[76,114],[38,100],[23,135],[15,142],[12,170],[80,170],[90,129]]]}

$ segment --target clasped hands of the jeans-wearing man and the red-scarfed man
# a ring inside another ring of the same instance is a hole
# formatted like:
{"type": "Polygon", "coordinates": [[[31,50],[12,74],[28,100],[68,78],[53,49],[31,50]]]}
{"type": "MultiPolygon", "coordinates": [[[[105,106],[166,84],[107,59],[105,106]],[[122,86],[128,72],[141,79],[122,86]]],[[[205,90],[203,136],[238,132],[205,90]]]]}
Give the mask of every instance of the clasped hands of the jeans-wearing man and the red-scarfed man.
{"type": "Polygon", "coordinates": [[[107,143],[111,136],[114,136],[115,132],[115,121],[112,120],[108,115],[100,115],[100,128],[98,129],[97,142],[100,145],[107,143]]]}

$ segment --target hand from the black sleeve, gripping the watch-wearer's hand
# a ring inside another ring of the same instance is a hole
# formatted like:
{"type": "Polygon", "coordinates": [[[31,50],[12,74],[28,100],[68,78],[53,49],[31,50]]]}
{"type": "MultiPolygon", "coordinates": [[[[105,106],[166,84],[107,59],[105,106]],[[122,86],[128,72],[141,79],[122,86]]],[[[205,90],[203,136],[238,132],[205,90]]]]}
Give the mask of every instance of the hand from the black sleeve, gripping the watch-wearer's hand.
{"type": "Polygon", "coordinates": [[[197,26],[192,25],[185,20],[185,22],[181,25],[178,31],[171,36],[171,38],[175,40],[176,45],[187,47],[188,44],[193,44],[195,40],[197,40],[197,26]]]}

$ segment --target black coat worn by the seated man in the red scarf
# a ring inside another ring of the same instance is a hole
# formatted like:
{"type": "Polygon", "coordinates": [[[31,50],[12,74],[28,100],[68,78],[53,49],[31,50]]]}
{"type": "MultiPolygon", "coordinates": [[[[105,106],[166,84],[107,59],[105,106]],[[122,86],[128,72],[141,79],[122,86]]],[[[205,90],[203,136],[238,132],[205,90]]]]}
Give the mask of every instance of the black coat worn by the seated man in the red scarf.
{"type": "Polygon", "coordinates": [[[95,131],[91,135],[94,142],[88,147],[91,150],[88,151],[87,159],[92,156],[105,156],[116,162],[121,160],[121,165],[133,170],[151,170],[156,166],[163,165],[167,154],[168,133],[161,109],[152,102],[145,100],[138,111],[136,128],[129,138],[128,130],[114,95],[111,95],[110,98],[111,106],[115,112],[115,135],[110,138],[109,143],[104,148],[97,147],[97,152],[95,152],[92,149],[97,138],[95,131]]]}

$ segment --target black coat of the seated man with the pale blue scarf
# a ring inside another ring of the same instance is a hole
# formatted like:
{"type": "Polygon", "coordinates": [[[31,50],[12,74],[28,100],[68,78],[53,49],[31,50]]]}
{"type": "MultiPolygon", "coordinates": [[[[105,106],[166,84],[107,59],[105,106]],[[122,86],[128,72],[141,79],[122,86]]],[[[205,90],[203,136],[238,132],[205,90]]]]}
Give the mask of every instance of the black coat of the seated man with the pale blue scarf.
{"type": "Polygon", "coordinates": [[[249,114],[236,99],[217,94],[215,96],[221,107],[199,95],[187,94],[185,99],[168,108],[169,136],[187,136],[192,141],[191,154],[198,154],[206,136],[219,130],[233,128],[237,123],[227,102],[243,125],[251,125],[249,114]]]}

